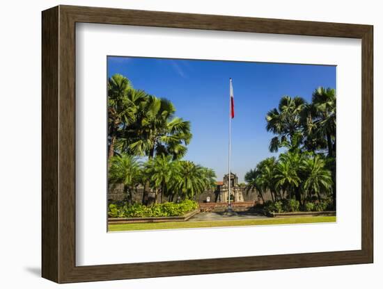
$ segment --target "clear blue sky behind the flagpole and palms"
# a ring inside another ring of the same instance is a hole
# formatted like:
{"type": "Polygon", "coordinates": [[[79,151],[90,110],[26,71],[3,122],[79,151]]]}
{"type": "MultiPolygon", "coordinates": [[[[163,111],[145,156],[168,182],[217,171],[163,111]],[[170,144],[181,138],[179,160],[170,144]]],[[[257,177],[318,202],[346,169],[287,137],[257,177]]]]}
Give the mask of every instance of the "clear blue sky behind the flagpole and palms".
{"type": "Polygon", "coordinates": [[[108,77],[126,76],[134,88],[170,99],[176,115],[192,123],[185,159],[210,167],[221,181],[228,172],[229,78],[233,79],[232,172],[244,174],[268,156],[265,115],[283,95],[307,101],[318,86],[335,88],[336,67],[211,60],[108,57],[108,77]]]}

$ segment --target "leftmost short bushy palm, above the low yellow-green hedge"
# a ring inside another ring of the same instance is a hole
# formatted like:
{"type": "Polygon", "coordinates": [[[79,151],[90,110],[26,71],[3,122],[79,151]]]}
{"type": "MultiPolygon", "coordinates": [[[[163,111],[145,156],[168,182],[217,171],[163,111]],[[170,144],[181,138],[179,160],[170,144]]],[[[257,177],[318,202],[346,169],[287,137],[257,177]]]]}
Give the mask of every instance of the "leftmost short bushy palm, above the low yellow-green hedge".
{"type": "Polygon", "coordinates": [[[123,192],[126,195],[127,204],[132,204],[134,188],[140,183],[141,163],[134,156],[121,154],[110,158],[109,183],[123,184],[123,192]]]}

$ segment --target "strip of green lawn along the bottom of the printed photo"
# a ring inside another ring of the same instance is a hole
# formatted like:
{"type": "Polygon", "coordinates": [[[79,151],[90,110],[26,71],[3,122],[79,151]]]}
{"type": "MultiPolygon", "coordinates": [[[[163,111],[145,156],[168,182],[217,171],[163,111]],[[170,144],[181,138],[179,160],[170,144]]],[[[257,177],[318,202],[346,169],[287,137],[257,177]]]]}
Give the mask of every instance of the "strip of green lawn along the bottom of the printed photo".
{"type": "Polygon", "coordinates": [[[274,217],[255,220],[222,220],[222,221],[195,221],[195,222],[162,222],[162,223],[136,223],[111,224],[109,231],[136,231],[136,230],[164,230],[187,228],[210,228],[214,226],[259,226],[276,224],[305,224],[335,222],[336,216],[330,217],[274,217]]]}

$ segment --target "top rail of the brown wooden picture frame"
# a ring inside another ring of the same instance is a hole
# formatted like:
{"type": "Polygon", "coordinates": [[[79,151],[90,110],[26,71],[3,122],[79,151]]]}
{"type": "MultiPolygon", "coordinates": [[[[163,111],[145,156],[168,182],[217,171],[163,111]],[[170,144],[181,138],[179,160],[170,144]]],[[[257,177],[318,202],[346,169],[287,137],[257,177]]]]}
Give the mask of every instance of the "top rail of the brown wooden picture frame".
{"type": "Polygon", "coordinates": [[[75,22],[361,38],[367,25],[60,6],[75,22]]]}

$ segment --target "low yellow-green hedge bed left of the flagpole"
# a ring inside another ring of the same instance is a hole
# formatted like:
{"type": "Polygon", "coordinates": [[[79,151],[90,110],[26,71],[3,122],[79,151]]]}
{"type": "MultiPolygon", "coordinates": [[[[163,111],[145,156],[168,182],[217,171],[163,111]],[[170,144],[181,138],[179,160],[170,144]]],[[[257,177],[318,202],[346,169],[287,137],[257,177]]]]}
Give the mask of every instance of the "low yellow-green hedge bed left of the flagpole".
{"type": "Polygon", "coordinates": [[[185,200],[180,204],[164,203],[153,206],[109,204],[108,215],[109,217],[171,217],[185,215],[196,208],[198,203],[192,200],[185,200]]]}

